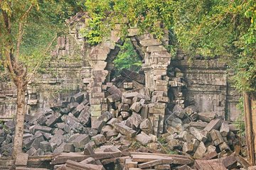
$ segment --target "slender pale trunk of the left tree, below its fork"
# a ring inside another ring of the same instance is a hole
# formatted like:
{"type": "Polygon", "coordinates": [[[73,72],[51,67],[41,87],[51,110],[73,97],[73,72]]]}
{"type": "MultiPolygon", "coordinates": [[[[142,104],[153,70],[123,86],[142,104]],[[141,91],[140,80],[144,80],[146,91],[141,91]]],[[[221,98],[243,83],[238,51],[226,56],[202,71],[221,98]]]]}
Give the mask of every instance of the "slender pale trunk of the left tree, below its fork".
{"type": "Polygon", "coordinates": [[[26,82],[21,78],[16,81],[17,86],[17,111],[16,111],[16,126],[14,135],[14,151],[12,157],[15,159],[18,153],[22,152],[23,143],[23,126],[26,112],[26,82]]]}

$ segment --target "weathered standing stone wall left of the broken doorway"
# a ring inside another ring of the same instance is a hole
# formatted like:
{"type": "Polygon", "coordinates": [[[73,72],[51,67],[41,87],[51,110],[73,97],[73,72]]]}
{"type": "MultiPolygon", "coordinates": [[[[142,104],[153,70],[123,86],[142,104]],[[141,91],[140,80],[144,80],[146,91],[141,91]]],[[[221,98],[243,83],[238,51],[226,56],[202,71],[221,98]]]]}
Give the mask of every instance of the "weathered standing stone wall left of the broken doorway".
{"type": "MultiPolygon", "coordinates": [[[[86,91],[82,79],[87,77],[86,47],[80,28],[84,21],[70,27],[68,35],[58,38],[51,59],[44,70],[35,75],[26,91],[27,114],[34,115],[49,108],[66,96],[86,91]]],[[[4,73],[0,72],[0,77],[4,73]]],[[[0,118],[6,120],[16,114],[16,86],[11,80],[0,79],[0,118]]]]}

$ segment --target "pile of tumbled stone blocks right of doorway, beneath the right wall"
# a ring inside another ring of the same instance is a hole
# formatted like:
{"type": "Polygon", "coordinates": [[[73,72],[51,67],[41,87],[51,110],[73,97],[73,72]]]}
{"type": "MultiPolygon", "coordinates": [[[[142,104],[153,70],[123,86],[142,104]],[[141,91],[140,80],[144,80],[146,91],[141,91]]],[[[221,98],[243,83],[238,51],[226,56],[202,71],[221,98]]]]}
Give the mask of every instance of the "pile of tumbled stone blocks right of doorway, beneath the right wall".
{"type": "Polygon", "coordinates": [[[165,123],[162,137],[171,150],[178,149],[194,159],[213,158],[230,151],[247,157],[245,137],[240,137],[235,125],[214,112],[197,113],[194,106],[174,106],[165,123]]]}

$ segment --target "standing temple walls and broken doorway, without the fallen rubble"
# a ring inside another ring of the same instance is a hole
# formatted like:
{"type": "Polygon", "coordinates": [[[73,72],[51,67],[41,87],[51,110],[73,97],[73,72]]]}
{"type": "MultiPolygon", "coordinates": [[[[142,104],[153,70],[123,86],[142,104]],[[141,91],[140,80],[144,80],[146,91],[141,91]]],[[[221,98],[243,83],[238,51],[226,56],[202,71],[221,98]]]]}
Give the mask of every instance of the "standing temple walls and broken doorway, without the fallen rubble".
{"type": "MultiPolygon", "coordinates": [[[[78,91],[86,92],[90,98],[92,118],[110,109],[108,100],[111,96],[106,94],[106,90],[114,79],[112,61],[119,52],[118,45],[122,44],[119,37],[121,24],[116,24],[110,38],[105,38],[99,45],[90,46],[80,35],[80,29],[85,27],[85,18],[80,18],[81,15],[78,13],[70,20],[70,33],[58,38],[52,60],[47,63],[48,72],[37,74],[29,83],[26,95],[28,114],[34,115],[58,105],[63,98],[78,91]]],[[[128,37],[143,61],[141,74],[139,77],[127,75],[127,79],[135,79],[130,82],[124,80],[117,87],[125,89],[129,84],[128,89],[139,89],[144,86],[153,96],[161,91],[161,96],[168,97],[170,102],[159,106],[159,110],[149,108],[148,116],[155,123],[163,122],[159,120],[164,118],[165,109],[171,104],[182,108],[195,105],[198,112],[214,111],[226,120],[238,118],[240,111],[236,105],[240,94],[229,84],[225,63],[218,59],[200,58],[188,62],[188,56],[182,52],[171,57],[165,48],[169,42],[167,34],[159,41],[148,33],[137,33],[137,28],[131,28],[128,37]]],[[[111,100],[115,100],[112,97],[111,100]]],[[[15,101],[14,84],[0,82],[0,118],[12,118],[16,112],[15,101]]]]}

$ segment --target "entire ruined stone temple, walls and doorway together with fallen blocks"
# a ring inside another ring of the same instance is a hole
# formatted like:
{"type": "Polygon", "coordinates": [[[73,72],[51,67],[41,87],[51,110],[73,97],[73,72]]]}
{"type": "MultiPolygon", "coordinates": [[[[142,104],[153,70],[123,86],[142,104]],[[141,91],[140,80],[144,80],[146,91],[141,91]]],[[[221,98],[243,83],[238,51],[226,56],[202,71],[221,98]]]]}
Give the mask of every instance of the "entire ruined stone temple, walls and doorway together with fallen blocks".
{"type": "MultiPolygon", "coordinates": [[[[0,169],[220,169],[249,165],[245,137],[233,125],[240,94],[226,64],[171,56],[169,35],[157,40],[129,28],[142,60],[139,72],[115,76],[122,24],[89,45],[80,34],[87,16],[70,18],[26,91],[23,152],[11,159],[16,89],[0,81],[0,169]],[[178,154],[170,154],[176,152],[178,154]],[[242,157],[240,156],[242,155],[242,157]],[[1,159],[1,157],[6,157],[1,159]],[[216,159],[218,158],[218,159],[216,159]]],[[[1,76],[1,74],[0,74],[1,76]]]]}

